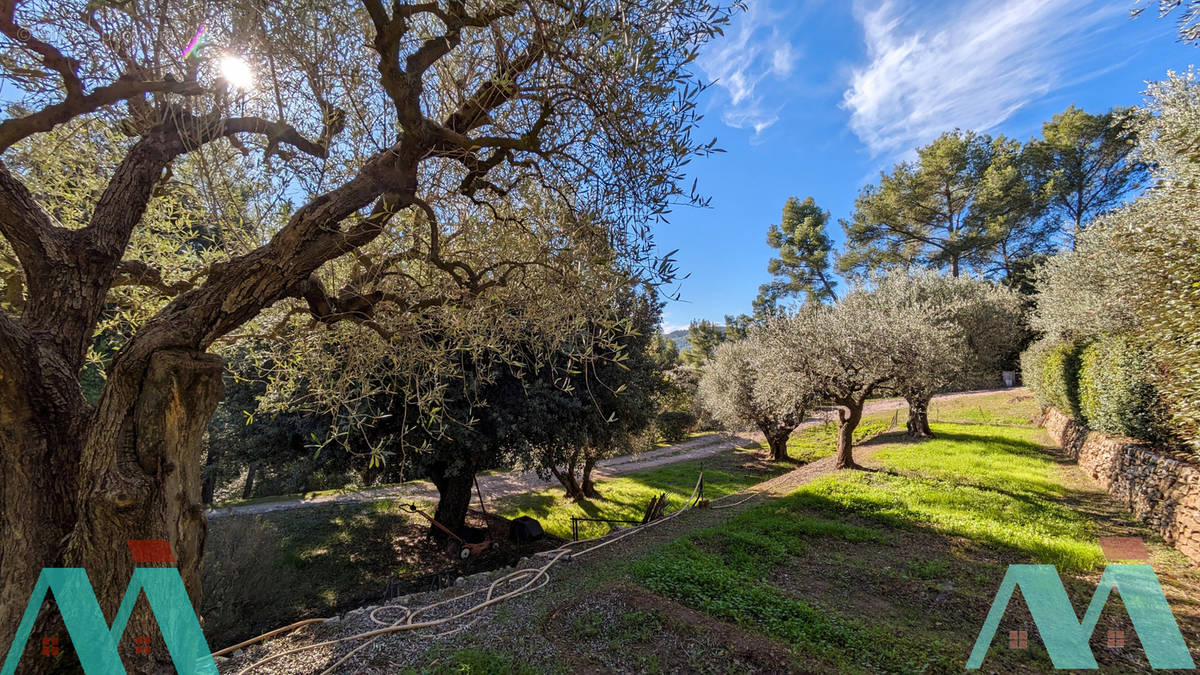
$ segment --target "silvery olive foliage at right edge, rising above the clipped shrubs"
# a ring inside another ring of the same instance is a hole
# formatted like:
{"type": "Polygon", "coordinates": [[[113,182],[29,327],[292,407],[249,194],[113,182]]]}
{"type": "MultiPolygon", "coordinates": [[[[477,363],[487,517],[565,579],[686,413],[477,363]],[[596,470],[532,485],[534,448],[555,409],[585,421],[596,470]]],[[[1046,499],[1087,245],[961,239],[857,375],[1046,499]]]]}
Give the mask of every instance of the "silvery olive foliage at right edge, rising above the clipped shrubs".
{"type": "Polygon", "coordinates": [[[1132,348],[1150,353],[1145,376],[1163,408],[1154,417],[1175,440],[1200,448],[1200,82],[1193,70],[1168,73],[1146,96],[1135,113],[1136,155],[1153,183],[1085,229],[1075,251],[1048,262],[1034,327],[1049,345],[1135,338],[1132,348]]]}

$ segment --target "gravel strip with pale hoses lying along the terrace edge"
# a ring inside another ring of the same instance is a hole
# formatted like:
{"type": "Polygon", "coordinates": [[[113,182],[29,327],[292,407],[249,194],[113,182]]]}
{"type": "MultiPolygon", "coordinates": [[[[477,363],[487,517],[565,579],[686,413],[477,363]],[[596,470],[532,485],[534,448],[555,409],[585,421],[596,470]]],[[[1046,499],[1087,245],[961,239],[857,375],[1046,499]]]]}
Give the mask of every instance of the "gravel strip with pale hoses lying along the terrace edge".
{"type": "MultiPolygon", "coordinates": [[[[856,452],[856,459],[865,460],[874,453],[871,446],[860,447],[856,452]]],[[[544,639],[541,634],[545,629],[546,617],[556,607],[563,603],[600,602],[594,593],[606,592],[605,584],[619,581],[617,574],[620,561],[650,550],[652,548],[673,540],[688,532],[708,527],[721,522],[733,514],[740,513],[762,498],[769,498],[788,494],[798,486],[830,473],[833,471],[834,458],[824,458],[794,471],[778,476],[760,483],[739,495],[714,503],[718,508],[689,509],[678,515],[660,520],[655,525],[631,533],[628,537],[590,552],[583,552],[589,543],[576,543],[571,545],[577,557],[563,560],[548,569],[550,581],[545,587],[534,590],[523,596],[504,601],[488,607],[462,620],[412,632],[401,632],[382,635],[370,646],[354,653],[349,661],[338,665],[332,673],[350,674],[384,674],[396,673],[403,668],[428,665],[439,656],[452,653],[456,650],[472,646],[487,646],[510,653],[522,655],[522,661],[535,668],[540,664],[548,669],[556,663],[563,662],[563,655],[557,651],[552,641],[544,639]],[[746,498],[749,497],[749,498],[746,498]],[[586,557],[584,557],[586,556],[586,557]]],[[[614,531],[611,539],[628,533],[628,528],[614,531]]],[[[608,539],[604,539],[608,540],[608,539]]],[[[516,569],[535,569],[548,562],[545,557],[529,557],[515,566],[516,569]]],[[[421,611],[418,621],[454,616],[484,599],[486,589],[497,579],[514,572],[514,568],[504,568],[494,572],[485,572],[460,579],[455,587],[442,591],[416,593],[397,599],[392,604],[404,605],[409,609],[426,607],[433,603],[449,601],[428,611],[421,611]],[[458,597],[468,591],[478,591],[470,597],[458,597]]],[[[611,586],[610,586],[611,587],[611,586]]],[[[511,586],[509,586],[511,589],[511,586]]],[[[504,592],[505,587],[499,589],[504,592]]],[[[376,607],[365,607],[353,610],[340,617],[331,619],[324,623],[305,626],[283,637],[272,639],[265,645],[248,647],[235,653],[232,658],[222,659],[218,665],[222,674],[240,674],[247,667],[253,665],[263,658],[280,655],[290,649],[316,645],[326,640],[355,635],[367,631],[373,631],[380,626],[370,617],[376,607]]],[[[380,610],[380,619],[395,621],[403,615],[403,610],[380,610]]],[[[334,667],[350,650],[362,645],[366,640],[353,640],[334,645],[317,646],[295,655],[288,655],[276,661],[256,665],[248,673],[254,675],[269,674],[318,674],[334,667]]]]}

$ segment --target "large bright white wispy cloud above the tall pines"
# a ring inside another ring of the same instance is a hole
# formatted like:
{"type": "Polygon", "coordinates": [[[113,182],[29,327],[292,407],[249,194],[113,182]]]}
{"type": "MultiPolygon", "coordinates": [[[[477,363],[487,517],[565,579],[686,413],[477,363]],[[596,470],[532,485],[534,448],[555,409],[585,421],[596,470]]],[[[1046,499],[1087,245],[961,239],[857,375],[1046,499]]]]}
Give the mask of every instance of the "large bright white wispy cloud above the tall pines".
{"type": "Polygon", "coordinates": [[[988,131],[1079,77],[1128,7],[1093,0],[967,0],[952,12],[856,5],[869,62],[842,104],[871,153],[898,154],[954,127],[988,131]]]}

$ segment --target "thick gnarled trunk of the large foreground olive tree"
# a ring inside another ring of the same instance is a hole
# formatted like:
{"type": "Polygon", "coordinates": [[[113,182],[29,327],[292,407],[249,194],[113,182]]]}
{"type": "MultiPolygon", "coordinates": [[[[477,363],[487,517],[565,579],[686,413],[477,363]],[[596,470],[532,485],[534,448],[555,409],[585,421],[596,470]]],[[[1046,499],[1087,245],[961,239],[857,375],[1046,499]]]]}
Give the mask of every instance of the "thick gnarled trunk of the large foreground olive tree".
{"type": "MultiPolygon", "coordinates": [[[[216,356],[154,352],[139,380],[109,382],[131,394],[125,399],[128,405],[113,406],[112,399],[104,405],[102,399],[95,411],[67,395],[78,393],[70,381],[59,389],[42,378],[37,395],[30,390],[14,395],[8,384],[19,376],[5,371],[0,377],[5,422],[0,569],[6,597],[0,603],[0,635],[16,633],[43,567],[86,569],[110,621],[134,568],[128,539],[169,542],[192,605],[199,609],[200,557],[208,532],[200,500],[200,440],[221,398],[221,370],[216,356]],[[36,417],[30,417],[35,410],[36,417]],[[52,420],[61,420],[62,426],[49,429],[52,420]],[[23,596],[14,597],[14,590],[23,596]]],[[[26,645],[23,671],[50,670],[74,659],[70,649],[61,649],[59,659],[47,659],[35,646],[42,631],[61,626],[47,607],[26,645]]],[[[66,635],[58,633],[65,646],[66,635]]],[[[119,641],[131,673],[170,671],[170,657],[158,635],[149,605],[138,603],[119,641]],[[133,653],[137,635],[154,638],[149,656],[133,653]]]]}

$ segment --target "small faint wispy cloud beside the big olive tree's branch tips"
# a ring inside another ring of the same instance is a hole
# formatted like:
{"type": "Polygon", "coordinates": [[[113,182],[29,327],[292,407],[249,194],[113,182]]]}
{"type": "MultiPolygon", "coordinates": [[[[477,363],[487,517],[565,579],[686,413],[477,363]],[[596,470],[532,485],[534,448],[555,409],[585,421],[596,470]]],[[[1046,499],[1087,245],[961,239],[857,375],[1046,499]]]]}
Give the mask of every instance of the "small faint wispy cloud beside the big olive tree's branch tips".
{"type": "Polygon", "coordinates": [[[767,0],[750,4],[721,40],[713,41],[698,64],[704,76],[728,96],[721,121],[736,129],[752,129],[755,136],[779,121],[780,101],[768,101],[760,85],[767,78],[782,80],[799,58],[776,25],[782,17],[767,0]]]}

